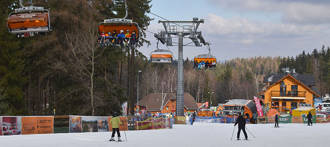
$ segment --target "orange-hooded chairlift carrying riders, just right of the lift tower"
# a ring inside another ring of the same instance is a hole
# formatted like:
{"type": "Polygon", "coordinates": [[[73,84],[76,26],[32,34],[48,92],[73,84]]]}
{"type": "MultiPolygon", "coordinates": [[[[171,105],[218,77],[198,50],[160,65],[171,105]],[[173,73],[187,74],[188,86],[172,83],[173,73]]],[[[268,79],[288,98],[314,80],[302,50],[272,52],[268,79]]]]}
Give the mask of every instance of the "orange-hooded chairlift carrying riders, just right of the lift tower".
{"type": "Polygon", "coordinates": [[[207,69],[206,66],[208,67],[208,69],[214,69],[216,67],[216,64],[217,64],[217,58],[215,56],[213,56],[211,54],[211,49],[210,49],[210,45],[211,43],[207,42],[206,43],[206,47],[207,49],[209,50],[209,53],[208,54],[199,54],[197,56],[195,56],[193,58],[193,62],[195,63],[196,61],[199,63],[201,62],[205,62],[205,67],[201,67],[201,66],[194,66],[195,69],[207,69]],[[208,61],[208,62],[207,62],[208,61]],[[215,63],[214,63],[215,62],[215,63]],[[206,63],[209,63],[209,65],[206,65],[206,63]],[[213,65],[212,65],[213,63],[213,65]]]}

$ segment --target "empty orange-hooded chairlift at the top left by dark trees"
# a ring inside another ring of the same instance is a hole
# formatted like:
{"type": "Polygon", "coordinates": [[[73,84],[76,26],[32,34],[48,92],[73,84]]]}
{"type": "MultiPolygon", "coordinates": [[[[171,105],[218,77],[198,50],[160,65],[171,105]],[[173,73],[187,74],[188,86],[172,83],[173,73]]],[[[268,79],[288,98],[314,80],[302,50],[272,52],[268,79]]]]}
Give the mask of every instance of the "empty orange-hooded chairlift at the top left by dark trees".
{"type": "Polygon", "coordinates": [[[21,8],[9,13],[7,28],[10,33],[48,32],[52,30],[49,10],[44,9],[44,7],[25,7],[22,0],[20,0],[20,5],[21,8]]]}

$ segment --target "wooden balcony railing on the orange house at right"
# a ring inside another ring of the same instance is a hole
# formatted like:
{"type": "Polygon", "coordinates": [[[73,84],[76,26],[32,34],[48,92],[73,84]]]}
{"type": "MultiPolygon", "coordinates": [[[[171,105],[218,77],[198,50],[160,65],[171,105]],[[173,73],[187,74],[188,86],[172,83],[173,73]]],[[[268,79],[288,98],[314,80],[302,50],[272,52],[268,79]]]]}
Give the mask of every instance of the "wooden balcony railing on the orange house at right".
{"type": "Polygon", "coordinates": [[[306,91],[271,91],[272,98],[304,99],[306,91]]]}

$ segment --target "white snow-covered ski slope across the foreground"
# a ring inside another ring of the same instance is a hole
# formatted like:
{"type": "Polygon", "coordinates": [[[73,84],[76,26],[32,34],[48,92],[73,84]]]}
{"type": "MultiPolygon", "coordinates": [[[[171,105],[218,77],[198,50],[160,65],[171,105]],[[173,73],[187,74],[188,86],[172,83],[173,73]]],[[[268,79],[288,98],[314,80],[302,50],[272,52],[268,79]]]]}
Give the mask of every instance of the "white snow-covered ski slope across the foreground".
{"type": "MultiPolygon", "coordinates": [[[[249,141],[233,140],[233,124],[194,123],[173,129],[126,131],[127,142],[106,142],[111,132],[0,136],[0,147],[328,147],[330,123],[247,124],[249,141]]],[[[124,131],[120,131],[125,140],[124,131]]],[[[244,138],[241,132],[241,139],[244,138]]],[[[117,135],[115,136],[117,140],[117,135]]]]}

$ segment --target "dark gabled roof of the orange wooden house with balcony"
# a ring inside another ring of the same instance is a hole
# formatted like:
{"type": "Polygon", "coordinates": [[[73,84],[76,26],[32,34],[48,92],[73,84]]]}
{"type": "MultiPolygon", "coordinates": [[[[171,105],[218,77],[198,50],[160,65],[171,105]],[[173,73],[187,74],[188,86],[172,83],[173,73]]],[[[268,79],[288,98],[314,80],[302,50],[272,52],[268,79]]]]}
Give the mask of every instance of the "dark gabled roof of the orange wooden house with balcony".
{"type": "MultiPolygon", "coordinates": [[[[278,81],[280,81],[281,79],[283,79],[284,77],[286,77],[288,75],[297,79],[303,85],[305,85],[310,90],[312,90],[315,94],[320,96],[319,91],[317,90],[316,87],[314,87],[315,86],[315,77],[313,74],[298,74],[298,73],[292,73],[292,72],[290,72],[290,73],[272,73],[272,74],[269,74],[264,77],[264,81],[263,81],[264,83],[268,83],[268,82],[271,83],[271,85],[266,87],[266,89],[272,87],[273,85],[275,85],[275,83],[277,83],[278,81]]],[[[263,89],[259,94],[261,94],[263,91],[265,91],[265,89],[263,89]]]]}

